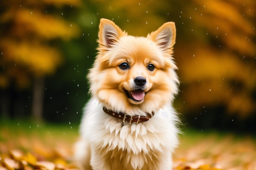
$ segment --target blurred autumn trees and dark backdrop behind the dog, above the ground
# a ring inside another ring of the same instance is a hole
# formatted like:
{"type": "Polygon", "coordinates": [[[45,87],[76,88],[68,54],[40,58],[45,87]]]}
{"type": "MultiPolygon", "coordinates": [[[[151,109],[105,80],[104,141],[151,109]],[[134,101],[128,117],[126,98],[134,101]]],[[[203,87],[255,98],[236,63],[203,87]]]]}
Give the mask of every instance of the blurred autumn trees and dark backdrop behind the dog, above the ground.
{"type": "Polygon", "coordinates": [[[185,127],[256,132],[255,0],[0,1],[0,119],[79,123],[100,18],[137,36],[175,22],[185,127]]]}

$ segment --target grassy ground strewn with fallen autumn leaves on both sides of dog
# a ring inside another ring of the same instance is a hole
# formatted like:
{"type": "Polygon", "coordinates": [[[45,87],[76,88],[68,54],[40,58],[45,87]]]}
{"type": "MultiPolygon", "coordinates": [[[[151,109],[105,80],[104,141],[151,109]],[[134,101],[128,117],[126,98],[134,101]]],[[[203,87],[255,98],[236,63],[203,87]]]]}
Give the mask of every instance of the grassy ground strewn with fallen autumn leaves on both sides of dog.
{"type": "MultiPolygon", "coordinates": [[[[77,125],[8,122],[0,125],[0,170],[76,170],[77,125]]],[[[250,135],[184,129],[173,170],[256,170],[250,135]]]]}

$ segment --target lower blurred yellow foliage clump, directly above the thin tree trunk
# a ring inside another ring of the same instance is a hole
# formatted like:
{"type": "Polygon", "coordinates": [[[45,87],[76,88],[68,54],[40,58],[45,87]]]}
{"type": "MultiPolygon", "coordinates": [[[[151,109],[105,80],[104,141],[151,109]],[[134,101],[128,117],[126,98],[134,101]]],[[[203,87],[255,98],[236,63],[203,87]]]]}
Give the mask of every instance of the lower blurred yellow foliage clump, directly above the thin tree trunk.
{"type": "Polygon", "coordinates": [[[56,49],[38,42],[2,40],[0,45],[7,52],[5,60],[24,65],[36,76],[52,73],[61,63],[56,49]]]}

